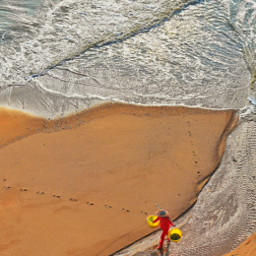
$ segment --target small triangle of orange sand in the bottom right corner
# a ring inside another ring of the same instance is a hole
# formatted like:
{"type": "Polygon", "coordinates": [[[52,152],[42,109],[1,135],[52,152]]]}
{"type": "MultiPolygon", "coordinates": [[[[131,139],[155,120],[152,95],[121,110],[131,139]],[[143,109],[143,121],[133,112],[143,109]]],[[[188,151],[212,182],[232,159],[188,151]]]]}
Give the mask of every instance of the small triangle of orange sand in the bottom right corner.
{"type": "Polygon", "coordinates": [[[256,233],[250,235],[235,250],[224,254],[224,256],[253,256],[256,255],[256,233]]]}

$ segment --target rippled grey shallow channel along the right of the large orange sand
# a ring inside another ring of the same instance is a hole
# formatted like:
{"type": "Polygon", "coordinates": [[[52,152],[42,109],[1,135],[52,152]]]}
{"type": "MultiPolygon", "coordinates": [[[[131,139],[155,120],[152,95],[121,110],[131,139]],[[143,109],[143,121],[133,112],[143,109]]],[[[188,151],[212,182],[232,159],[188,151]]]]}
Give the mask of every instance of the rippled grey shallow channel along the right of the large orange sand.
{"type": "Polygon", "coordinates": [[[241,122],[227,139],[224,160],[200,193],[169,255],[221,256],[256,231],[256,124],[241,122]]]}

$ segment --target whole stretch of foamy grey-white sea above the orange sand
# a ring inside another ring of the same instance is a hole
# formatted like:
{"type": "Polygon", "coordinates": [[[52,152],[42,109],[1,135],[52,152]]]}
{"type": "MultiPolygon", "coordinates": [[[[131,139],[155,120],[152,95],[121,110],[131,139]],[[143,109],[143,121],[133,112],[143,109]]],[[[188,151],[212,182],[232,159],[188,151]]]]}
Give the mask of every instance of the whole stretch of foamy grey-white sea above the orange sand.
{"type": "Polygon", "coordinates": [[[0,2],[0,103],[44,116],[104,101],[239,108],[253,0],[0,2]]]}

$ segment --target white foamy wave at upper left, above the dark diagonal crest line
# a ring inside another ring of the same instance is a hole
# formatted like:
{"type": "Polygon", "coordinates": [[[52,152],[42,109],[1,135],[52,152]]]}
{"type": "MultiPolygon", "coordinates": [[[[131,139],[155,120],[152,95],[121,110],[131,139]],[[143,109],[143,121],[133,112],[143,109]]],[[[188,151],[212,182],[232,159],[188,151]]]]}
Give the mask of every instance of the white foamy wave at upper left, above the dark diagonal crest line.
{"type": "Polygon", "coordinates": [[[148,31],[190,2],[44,1],[35,16],[24,16],[23,8],[7,3],[18,32],[9,28],[2,34],[3,39],[11,34],[13,40],[0,46],[1,88],[24,85],[31,76],[43,75],[89,48],[148,31]]]}

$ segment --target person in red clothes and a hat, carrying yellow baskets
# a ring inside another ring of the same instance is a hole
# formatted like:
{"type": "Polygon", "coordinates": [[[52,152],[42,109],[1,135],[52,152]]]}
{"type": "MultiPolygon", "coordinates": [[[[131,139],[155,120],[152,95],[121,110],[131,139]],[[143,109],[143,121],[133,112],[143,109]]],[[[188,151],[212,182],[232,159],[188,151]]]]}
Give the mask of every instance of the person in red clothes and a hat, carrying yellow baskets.
{"type": "MultiPolygon", "coordinates": [[[[157,222],[160,222],[160,228],[162,230],[160,235],[160,246],[158,247],[158,249],[160,250],[163,245],[164,236],[168,234],[169,227],[171,225],[174,226],[174,224],[170,221],[170,217],[167,211],[159,210],[156,213],[156,215],[158,216],[158,218],[153,223],[155,224],[157,222]]],[[[168,241],[169,241],[169,238],[168,238],[168,241]]]]}

